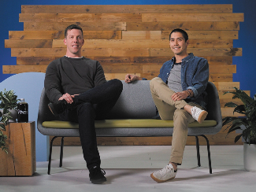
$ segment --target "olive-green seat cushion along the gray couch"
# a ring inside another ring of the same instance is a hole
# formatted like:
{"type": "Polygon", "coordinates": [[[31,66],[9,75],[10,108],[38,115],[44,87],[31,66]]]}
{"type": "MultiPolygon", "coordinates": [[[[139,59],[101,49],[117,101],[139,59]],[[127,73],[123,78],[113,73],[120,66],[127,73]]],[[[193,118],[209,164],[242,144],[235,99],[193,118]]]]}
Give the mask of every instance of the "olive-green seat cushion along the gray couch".
{"type": "MultiPolygon", "coordinates": [[[[202,124],[199,124],[197,121],[188,124],[188,127],[213,127],[217,124],[215,120],[204,120],[202,124]]],[[[44,121],[43,127],[47,128],[72,128],[77,129],[78,124],[61,121],[61,120],[52,120],[44,121]]],[[[173,120],[152,120],[152,119],[143,119],[143,120],[95,120],[96,128],[126,128],[126,127],[173,127],[173,120]]]]}

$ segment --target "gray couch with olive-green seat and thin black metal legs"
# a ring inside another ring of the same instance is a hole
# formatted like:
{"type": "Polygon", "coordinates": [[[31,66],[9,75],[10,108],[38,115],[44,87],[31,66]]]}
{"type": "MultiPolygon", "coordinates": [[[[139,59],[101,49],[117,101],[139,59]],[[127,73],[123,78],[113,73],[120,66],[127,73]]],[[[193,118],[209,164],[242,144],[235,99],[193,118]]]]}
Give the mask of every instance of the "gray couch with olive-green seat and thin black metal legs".
{"type": "MultiPolygon", "coordinates": [[[[157,120],[156,107],[150,94],[150,81],[141,80],[135,83],[124,83],[123,92],[117,104],[110,111],[107,120],[96,120],[96,135],[100,137],[151,137],[172,136],[173,120],[157,120]]],[[[193,122],[189,124],[188,135],[195,136],[198,166],[200,163],[198,136],[206,138],[210,173],[212,173],[210,160],[210,144],[206,135],[214,135],[221,131],[221,106],[217,89],[209,82],[206,88],[209,96],[207,105],[208,116],[202,124],[193,122]]],[[[58,116],[50,113],[49,100],[43,89],[39,103],[37,128],[43,135],[53,135],[50,142],[48,174],[50,174],[50,161],[53,141],[61,137],[60,167],[62,166],[63,141],[65,137],[79,137],[78,124],[59,120],[58,116]]]]}

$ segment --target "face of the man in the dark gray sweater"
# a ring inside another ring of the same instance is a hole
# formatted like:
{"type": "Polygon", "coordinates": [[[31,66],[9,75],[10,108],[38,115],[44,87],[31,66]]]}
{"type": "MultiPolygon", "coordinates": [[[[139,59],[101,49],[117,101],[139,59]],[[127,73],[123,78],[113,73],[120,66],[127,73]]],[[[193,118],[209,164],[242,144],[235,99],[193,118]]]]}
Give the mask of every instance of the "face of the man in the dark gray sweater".
{"type": "Polygon", "coordinates": [[[81,49],[84,43],[82,31],[79,29],[71,29],[67,32],[67,37],[64,39],[64,44],[67,46],[66,56],[82,57],[81,49]]]}

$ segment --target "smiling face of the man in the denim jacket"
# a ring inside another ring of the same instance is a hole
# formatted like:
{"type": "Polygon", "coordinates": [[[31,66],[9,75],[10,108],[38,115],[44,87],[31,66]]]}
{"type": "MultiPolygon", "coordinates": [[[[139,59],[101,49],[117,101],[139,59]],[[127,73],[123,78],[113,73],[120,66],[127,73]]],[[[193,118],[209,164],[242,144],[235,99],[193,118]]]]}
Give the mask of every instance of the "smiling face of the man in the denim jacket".
{"type": "Polygon", "coordinates": [[[180,32],[173,32],[170,38],[170,48],[175,55],[187,56],[188,40],[185,42],[180,32]]]}

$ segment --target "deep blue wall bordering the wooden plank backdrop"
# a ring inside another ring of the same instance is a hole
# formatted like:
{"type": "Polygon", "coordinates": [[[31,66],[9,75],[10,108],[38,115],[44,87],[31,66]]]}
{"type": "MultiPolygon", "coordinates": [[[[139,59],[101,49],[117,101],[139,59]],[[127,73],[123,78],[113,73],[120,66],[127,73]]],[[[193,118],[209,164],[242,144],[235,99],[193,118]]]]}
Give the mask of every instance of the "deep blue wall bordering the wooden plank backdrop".
{"type": "MultiPolygon", "coordinates": [[[[2,65],[16,65],[16,57],[11,57],[11,50],[5,48],[4,39],[9,39],[9,31],[23,31],[23,23],[19,23],[19,13],[21,13],[21,5],[165,5],[165,4],[232,4],[233,13],[244,13],[244,22],[240,23],[239,39],[234,40],[234,47],[243,48],[242,57],[233,57],[233,64],[236,65],[236,74],[233,76],[233,81],[240,82],[242,90],[250,90],[250,96],[256,94],[256,75],[254,70],[254,42],[256,42],[256,7],[255,0],[131,0],[131,1],[117,1],[117,0],[1,0],[0,6],[0,82],[12,75],[2,74],[2,65]]],[[[32,82],[36,83],[36,82],[32,82]]],[[[40,161],[40,159],[38,160],[40,161]]],[[[43,158],[41,161],[45,161],[43,158]]]]}

